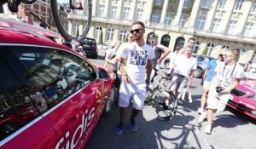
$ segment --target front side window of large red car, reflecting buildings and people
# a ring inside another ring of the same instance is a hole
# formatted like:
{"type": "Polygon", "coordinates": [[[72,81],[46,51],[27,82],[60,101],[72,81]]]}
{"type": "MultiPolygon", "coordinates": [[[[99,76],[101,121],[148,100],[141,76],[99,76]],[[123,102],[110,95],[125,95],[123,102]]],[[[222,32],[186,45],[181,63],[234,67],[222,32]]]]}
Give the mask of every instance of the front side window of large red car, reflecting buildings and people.
{"type": "Polygon", "coordinates": [[[96,79],[96,72],[78,56],[57,49],[3,47],[3,58],[43,113],[96,79]]]}

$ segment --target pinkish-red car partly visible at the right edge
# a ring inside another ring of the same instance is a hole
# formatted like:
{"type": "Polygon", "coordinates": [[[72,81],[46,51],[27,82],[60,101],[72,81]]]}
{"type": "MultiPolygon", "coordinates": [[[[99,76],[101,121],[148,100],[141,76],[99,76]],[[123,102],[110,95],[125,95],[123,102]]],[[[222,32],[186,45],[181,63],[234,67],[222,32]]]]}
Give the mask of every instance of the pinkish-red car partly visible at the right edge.
{"type": "Polygon", "coordinates": [[[228,106],[256,119],[256,80],[241,80],[236,89],[232,90],[231,95],[228,106]]]}

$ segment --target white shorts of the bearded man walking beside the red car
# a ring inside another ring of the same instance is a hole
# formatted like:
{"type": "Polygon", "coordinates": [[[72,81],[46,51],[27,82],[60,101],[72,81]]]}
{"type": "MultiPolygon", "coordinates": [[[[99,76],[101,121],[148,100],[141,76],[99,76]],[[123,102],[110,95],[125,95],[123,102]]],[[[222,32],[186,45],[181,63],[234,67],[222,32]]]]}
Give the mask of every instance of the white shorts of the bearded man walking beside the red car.
{"type": "Polygon", "coordinates": [[[142,110],[146,98],[146,84],[122,82],[119,89],[119,106],[129,106],[131,97],[133,99],[133,107],[137,110],[142,110]]]}

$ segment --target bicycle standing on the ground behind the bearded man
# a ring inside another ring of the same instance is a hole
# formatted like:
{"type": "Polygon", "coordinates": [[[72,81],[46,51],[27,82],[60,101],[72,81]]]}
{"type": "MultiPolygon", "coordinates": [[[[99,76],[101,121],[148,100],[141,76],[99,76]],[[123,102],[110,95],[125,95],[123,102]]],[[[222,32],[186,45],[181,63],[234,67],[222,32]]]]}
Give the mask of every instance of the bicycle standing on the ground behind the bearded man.
{"type": "Polygon", "coordinates": [[[151,105],[158,119],[168,121],[177,112],[177,99],[172,91],[167,89],[171,83],[172,76],[167,74],[167,72],[160,72],[163,72],[164,75],[160,79],[157,79],[157,77],[154,78],[154,82],[157,85],[153,89],[150,89],[144,105],[151,105]]]}

